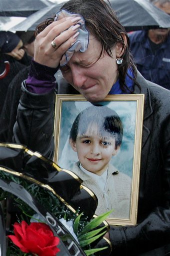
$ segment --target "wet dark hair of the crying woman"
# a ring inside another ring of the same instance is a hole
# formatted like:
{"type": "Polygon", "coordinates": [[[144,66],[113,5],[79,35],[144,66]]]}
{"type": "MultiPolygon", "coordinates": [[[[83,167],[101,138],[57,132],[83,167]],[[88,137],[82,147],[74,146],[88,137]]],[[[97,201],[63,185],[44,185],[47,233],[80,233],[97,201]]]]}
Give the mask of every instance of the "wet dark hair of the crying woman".
{"type": "MultiPolygon", "coordinates": [[[[112,56],[112,47],[118,42],[122,44],[124,48],[124,53],[121,56],[123,63],[118,65],[120,86],[123,91],[129,91],[125,77],[128,68],[131,68],[135,76],[134,80],[136,79],[135,63],[129,51],[130,43],[128,34],[124,26],[119,22],[112,7],[104,0],[69,0],[63,4],[61,9],[63,8],[84,17],[88,30],[101,42],[102,49],[99,57],[102,55],[104,49],[112,56]],[[127,45],[124,43],[123,34],[127,38],[127,45]]],[[[36,34],[41,32],[53,21],[54,18],[50,18],[37,26],[36,34]]]]}

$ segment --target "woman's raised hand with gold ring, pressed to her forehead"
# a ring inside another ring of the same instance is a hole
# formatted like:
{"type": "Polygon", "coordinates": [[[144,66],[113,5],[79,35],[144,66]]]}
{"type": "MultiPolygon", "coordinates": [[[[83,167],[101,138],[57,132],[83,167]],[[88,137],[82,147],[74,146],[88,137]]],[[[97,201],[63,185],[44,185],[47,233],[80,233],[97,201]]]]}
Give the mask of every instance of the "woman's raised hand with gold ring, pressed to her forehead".
{"type": "Polygon", "coordinates": [[[64,17],[40,32],[35,39],[34,60],[49,67],[59,66],[62,55],[76,41],[80,18],[64,17]],[[52,46],[52,41],[55,47],[52,46]]]}

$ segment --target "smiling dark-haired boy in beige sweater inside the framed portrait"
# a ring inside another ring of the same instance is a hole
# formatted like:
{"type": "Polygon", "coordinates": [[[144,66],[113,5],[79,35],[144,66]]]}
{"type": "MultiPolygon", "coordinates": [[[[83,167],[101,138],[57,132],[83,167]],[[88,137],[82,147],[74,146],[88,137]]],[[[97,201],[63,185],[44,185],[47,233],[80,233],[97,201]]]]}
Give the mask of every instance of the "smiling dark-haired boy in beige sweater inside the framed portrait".
{"type": "Polygon", "coordinates": [[[107,106],[92,105],[77,115],[69,142],[79,159],[72,171],[98,198],[95,213],[113,209],[109,217],[129,219],[132,180],[109,163],[120,149],[122,136],[118,114],[107,106]]]}

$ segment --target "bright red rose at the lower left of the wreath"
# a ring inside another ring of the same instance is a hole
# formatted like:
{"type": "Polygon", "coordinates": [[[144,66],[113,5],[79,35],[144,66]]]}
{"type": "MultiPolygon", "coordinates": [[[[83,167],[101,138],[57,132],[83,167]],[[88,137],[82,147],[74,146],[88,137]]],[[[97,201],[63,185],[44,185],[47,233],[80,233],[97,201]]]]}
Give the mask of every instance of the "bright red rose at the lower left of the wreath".
{"type": "Polygon", "coordinates": [[[24,220],[14,223],[14,234],[8,235],[12,242],[23,252],[31,252],[38,256],[55,256],[59,251],[59,238],[55,237],[45,223],[32,222],[28,225],[24,220]]]}

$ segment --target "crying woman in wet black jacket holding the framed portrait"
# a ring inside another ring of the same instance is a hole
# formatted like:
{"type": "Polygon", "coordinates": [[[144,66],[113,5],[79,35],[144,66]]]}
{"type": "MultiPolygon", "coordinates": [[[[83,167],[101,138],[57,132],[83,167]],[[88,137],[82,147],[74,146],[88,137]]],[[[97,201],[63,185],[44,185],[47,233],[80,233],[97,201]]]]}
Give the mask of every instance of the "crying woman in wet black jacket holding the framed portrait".
{"type": "Polygon", "coordinates": [[[13,142],[53,159],[58,69],[92,103],[108,94],[145,94],[137,224],[110,226],[96,247],[109,246],[105,256],[170,254],[170,90],[137,70],[128,34],[104,0],[68,0],[36,31],[13,142]]]}

